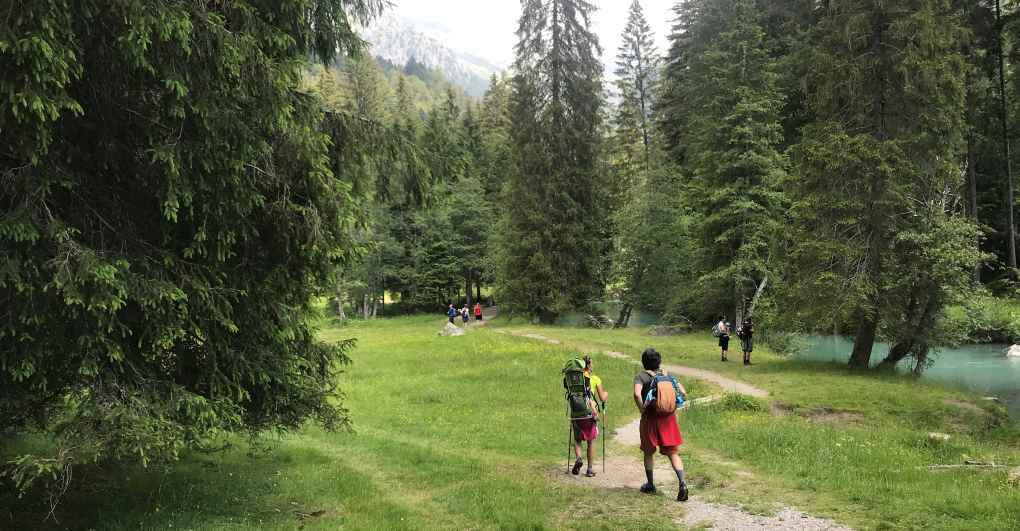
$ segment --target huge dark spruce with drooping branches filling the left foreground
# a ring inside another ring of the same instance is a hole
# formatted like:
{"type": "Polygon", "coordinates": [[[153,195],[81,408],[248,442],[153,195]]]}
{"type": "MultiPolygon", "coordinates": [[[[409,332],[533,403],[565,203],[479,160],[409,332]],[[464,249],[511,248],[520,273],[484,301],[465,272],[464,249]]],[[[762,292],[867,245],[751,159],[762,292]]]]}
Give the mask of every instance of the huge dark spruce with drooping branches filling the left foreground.
{"type": "Polygon", "coordinates": [[[298,83],[380,3],[7,4],[0,426],[53,441],[3,465],[18,487],[348,422],[351,343],[310,323],[359,251],[358,139],[298,83]]]}

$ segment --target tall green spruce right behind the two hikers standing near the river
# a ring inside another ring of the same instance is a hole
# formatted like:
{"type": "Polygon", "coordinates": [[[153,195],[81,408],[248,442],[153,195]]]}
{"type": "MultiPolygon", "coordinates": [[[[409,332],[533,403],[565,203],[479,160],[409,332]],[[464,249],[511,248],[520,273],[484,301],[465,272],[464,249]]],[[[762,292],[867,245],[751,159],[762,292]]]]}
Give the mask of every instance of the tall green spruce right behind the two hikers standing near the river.
{"type": "Polygon", "coordinates": [[[677,47],[697,53],[671,79],[686,96],[685,113],[665,117],[686,130],[683,194],[700,240],[688,296],[701,308],[740,319],[753,311],[776,268],[772,255],[785,211],[783,98],[754,0],[707,2],[688,35],[677,47]]]}

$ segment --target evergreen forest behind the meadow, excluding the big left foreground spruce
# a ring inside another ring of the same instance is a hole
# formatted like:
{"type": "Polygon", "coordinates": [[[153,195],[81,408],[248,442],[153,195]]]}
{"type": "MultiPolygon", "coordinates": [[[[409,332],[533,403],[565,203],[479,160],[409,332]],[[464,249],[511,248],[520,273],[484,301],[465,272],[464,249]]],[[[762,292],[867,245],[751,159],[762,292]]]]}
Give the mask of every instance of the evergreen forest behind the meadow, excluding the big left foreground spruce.
{"type": "Polygon", "coordinates": [[[1012,4],[684,1],[660,51],[634,2],[612,75],[594,4],[548,8],[561,26],[526,9],[481,101],[415,64],[309,74],[406,148],[397,172],[364,159],[370,251],[343,318],[484,286],[544,322],[610,301],[616,326],[834,330],[861,367],[876,339],[920,371],[938,346],[1017,338],[1012,4]]]}

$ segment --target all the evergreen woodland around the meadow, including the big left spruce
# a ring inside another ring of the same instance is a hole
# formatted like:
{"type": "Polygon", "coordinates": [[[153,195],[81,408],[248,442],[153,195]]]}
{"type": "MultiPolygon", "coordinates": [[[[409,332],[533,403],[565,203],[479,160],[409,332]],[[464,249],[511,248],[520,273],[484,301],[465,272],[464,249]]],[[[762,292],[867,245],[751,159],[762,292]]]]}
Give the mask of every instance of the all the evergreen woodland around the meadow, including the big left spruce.
{"type": "Polygon", "coordinates": [[[0,15],[0,444],[56,435],[9,480],[345,425],[320,297],[753,314],[917,370],[1015,298],[1013,2],[680,0],[657,50],[635,1],[603,51],[594,2],[522,0],[480,101],[371,59],[381,4],[0,15]]]}

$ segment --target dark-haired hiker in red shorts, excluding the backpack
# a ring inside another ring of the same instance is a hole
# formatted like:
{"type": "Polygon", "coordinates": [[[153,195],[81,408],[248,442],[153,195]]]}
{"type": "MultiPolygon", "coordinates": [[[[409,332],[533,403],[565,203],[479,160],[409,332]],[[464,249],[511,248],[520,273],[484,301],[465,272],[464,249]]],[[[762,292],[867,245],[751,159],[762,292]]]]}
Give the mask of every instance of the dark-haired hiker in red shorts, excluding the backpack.
{"type": "MultiPolygon", "coordinates": [[[[652,471],[655,469],[655,450],[658,448],[660,454],[669,457],[673,471],[676,472],[676,479],[680,484],[676,500],[686,501],[687,484],[683,480],[683,462],[677,454],[680,444],[683,444],[683,436],[680,435],[680,427],[676,424],[676,414],[658,416],[654,406],[645,404],[645,396],[648,395],[656,374],[661,372],[659,367],[662,365],[662,356],[655,349],[648,349],[641,355],[641,364],[645,370],[634,377],[634,404],[641,412],[641,449],[645,454],[645,477],[648,478],[648,482],[642,485],[641,491],[654,493],[656,490],[652,471]]],[[[680,394],[686,396],[686,389],[682,385],[678,387],[680,394]]]]}

